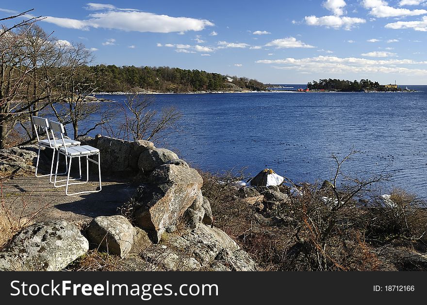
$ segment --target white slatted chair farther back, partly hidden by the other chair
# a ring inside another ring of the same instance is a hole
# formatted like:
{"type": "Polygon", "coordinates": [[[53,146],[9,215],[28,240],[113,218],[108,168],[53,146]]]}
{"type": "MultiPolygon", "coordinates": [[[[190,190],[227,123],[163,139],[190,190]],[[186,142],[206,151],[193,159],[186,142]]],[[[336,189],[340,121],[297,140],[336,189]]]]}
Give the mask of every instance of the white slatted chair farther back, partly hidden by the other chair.
{"type": "MultiPolygon", "coordinates": [[[[55,138],[51,134],[51,130],[49,132],[50,127],[49,127],[48,119],[36,117],[36,116],[32,116],[31,119],[33,121],[35,135],[37,137],[37,142],[38,142],[37,161],[36,161],[36,165],[35,165],[35,176],[37,178],[49,176],[49,182],[53,183],[52,174],[53,174],[53,160],[55,159],[55,152],[58,150],[59,147],[62,147],[64,145],[66,145],[66,146],[79,146],[80,141],[65,139],[65,141],[63,142],[61,140],[55,140],[55,138]],[[46,139],[40,140],[39,129],[43,130],[46,133],[46,136],[47,136],[46,139]],[[52,162],[50,164],[50,173],[46,174],[46,175],[40,175],[37,173],[38,169],[39,169],[38,164],[39,164],[39,160],[40,160],[40,149],[42,146],[45,148],[51,148],[53,150],[52,162]]],[[[59,154],[58,154],[58,158],[59,158],[59,154]]],[[[68,168],[67,162],[68,162],[68,160],[66,159],[66,169],[68,168]]],[[[61,174],[66,174],[66,171],[64,173],[61,173],[61,174]]]]}

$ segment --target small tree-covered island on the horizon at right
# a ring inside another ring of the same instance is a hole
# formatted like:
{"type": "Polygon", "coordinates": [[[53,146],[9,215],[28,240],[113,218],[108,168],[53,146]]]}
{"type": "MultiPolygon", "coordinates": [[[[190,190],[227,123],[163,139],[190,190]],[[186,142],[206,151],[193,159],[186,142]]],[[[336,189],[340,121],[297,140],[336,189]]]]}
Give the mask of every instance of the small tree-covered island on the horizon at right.
{"type": "Polygon", "coordinates": [[[369,79],[361,79],[360,81],[354,80],[340,80],[340,79],[319,79],[307,83],[307,89],[310,91],[330,91],[330,92],[387,92],[387,91],[409,91],[402,89],[396,84],[380,85],[378,81],[371,81],[369,79]]]}

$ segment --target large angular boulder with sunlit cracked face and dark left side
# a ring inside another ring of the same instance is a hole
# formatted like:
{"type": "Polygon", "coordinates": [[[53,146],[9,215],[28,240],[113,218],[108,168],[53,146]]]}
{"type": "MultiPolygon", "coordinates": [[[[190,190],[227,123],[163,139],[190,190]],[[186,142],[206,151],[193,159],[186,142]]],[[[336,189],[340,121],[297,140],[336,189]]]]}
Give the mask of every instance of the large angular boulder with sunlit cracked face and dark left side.
{"type": "Polygon", "coordinates": [[[193,168],[166,164],[156,168],[133,196],[134,223],[158,243],[166,227],[177,226],[200,194],[203,180],[193,168]]]}

